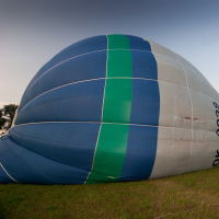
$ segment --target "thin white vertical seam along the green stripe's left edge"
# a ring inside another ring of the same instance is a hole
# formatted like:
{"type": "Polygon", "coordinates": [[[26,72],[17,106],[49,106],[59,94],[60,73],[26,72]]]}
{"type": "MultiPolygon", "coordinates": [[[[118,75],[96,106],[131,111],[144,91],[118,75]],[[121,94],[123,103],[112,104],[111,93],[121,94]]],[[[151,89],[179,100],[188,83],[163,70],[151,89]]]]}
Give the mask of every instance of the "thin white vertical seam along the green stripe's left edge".
{"type": "MultiPolygon", "coordinates": [[[[108,48],[108,37],[106,35],[106,39],[107,39],[107,48],[108,48]]],[[[95,145],[95,151],[94,151],[94,154],[93,154],[93,162],[92,162],[92,168],[91,168],[91,171],[90,173],[88,174],[87,178],[85,178],[85,182],[84,184],[87,183],[91,172],[93,171],[93,164],[94,164],[94,159],[95,159],[95,153],[96,153],[96,149],[97,149],[97,143],[99,143],[99,137],[100,137],[100,132],[101,132],[101,128],[102,128],[102,124],[103,124],[103,107],[104,107],[104,99],[105,99],[105,88],[106,88],[106,80],[107,80],[107,61],[108,61],[108,50],[106,53],[106,78],[105,78],[105,84],[104,84],[104,93],[103,93],[103,104],[102,104],[102,112],[101,112],[101,125],[100,125],[100,129],[99,129],[99,136],[97,136],[97,139],[96,139],[96,145],[95,145]]]]}

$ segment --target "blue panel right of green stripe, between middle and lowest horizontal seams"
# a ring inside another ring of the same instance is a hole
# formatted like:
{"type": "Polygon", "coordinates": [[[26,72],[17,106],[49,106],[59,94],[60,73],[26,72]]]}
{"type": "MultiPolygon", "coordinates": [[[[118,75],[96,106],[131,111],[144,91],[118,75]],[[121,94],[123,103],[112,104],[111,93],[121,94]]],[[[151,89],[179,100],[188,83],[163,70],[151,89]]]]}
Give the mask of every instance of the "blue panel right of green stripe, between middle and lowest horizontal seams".
{"type": "Polygon", "coordinates": [[[158,81],[132,79],[130,124],[159,125],[160,92],[158,81]]]}

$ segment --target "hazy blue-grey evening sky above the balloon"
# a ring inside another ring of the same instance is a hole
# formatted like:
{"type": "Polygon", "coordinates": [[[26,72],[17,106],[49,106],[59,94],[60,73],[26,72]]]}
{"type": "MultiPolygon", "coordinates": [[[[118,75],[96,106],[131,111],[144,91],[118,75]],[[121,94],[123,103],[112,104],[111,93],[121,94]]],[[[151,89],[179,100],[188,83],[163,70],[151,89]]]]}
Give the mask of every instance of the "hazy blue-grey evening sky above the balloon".
{"type": "Polygon", "coordinates": [[[219,91],[219,0],[0,0],[0,107],[65,47],[107,34],[170,48],[219,91]]]}

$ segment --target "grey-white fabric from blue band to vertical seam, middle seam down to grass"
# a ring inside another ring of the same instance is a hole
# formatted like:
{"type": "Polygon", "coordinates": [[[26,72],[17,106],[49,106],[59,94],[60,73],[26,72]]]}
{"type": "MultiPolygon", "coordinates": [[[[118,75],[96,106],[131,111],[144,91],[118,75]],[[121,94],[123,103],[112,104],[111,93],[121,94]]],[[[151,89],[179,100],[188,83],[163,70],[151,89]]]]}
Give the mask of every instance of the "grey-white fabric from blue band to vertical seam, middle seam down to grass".
{"type": "Polygon", "coordinates": [[[192,147],[192,107],[187,87],[159,81],[160,118],[151,178],[184,173],[192,147]]]}

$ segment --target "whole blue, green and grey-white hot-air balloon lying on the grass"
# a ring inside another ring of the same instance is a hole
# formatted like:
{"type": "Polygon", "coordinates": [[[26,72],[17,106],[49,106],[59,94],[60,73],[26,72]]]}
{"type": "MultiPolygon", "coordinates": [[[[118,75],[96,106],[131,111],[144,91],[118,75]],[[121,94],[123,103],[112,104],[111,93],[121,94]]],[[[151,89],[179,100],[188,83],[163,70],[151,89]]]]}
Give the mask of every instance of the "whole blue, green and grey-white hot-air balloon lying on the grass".
{"type": "Polygon", "coordinates": [[[216,166],[218,104],[206,78],[163,46],[129,35],[83,39],[27,85],[0,140],[0,183],[135,181],[216,166]]]}

